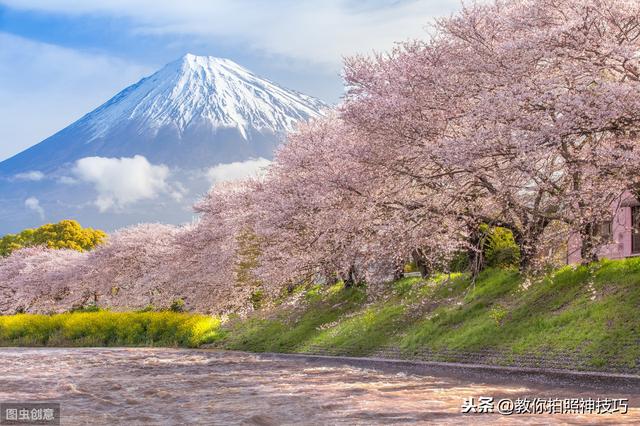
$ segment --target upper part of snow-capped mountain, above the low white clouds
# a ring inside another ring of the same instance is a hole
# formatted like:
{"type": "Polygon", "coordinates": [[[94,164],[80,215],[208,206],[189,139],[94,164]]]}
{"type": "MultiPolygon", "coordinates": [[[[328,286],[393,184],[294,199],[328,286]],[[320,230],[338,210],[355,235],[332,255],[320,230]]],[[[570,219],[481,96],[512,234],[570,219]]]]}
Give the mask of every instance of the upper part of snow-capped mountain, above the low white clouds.
{"type": "Polygon", "coordinates": [[[325,107],[229,59],[187,54],[0,163],[0,176],[49,173],[90,156],[143,155],[181,168],[269,158],[284,132],[325,107]]]}

